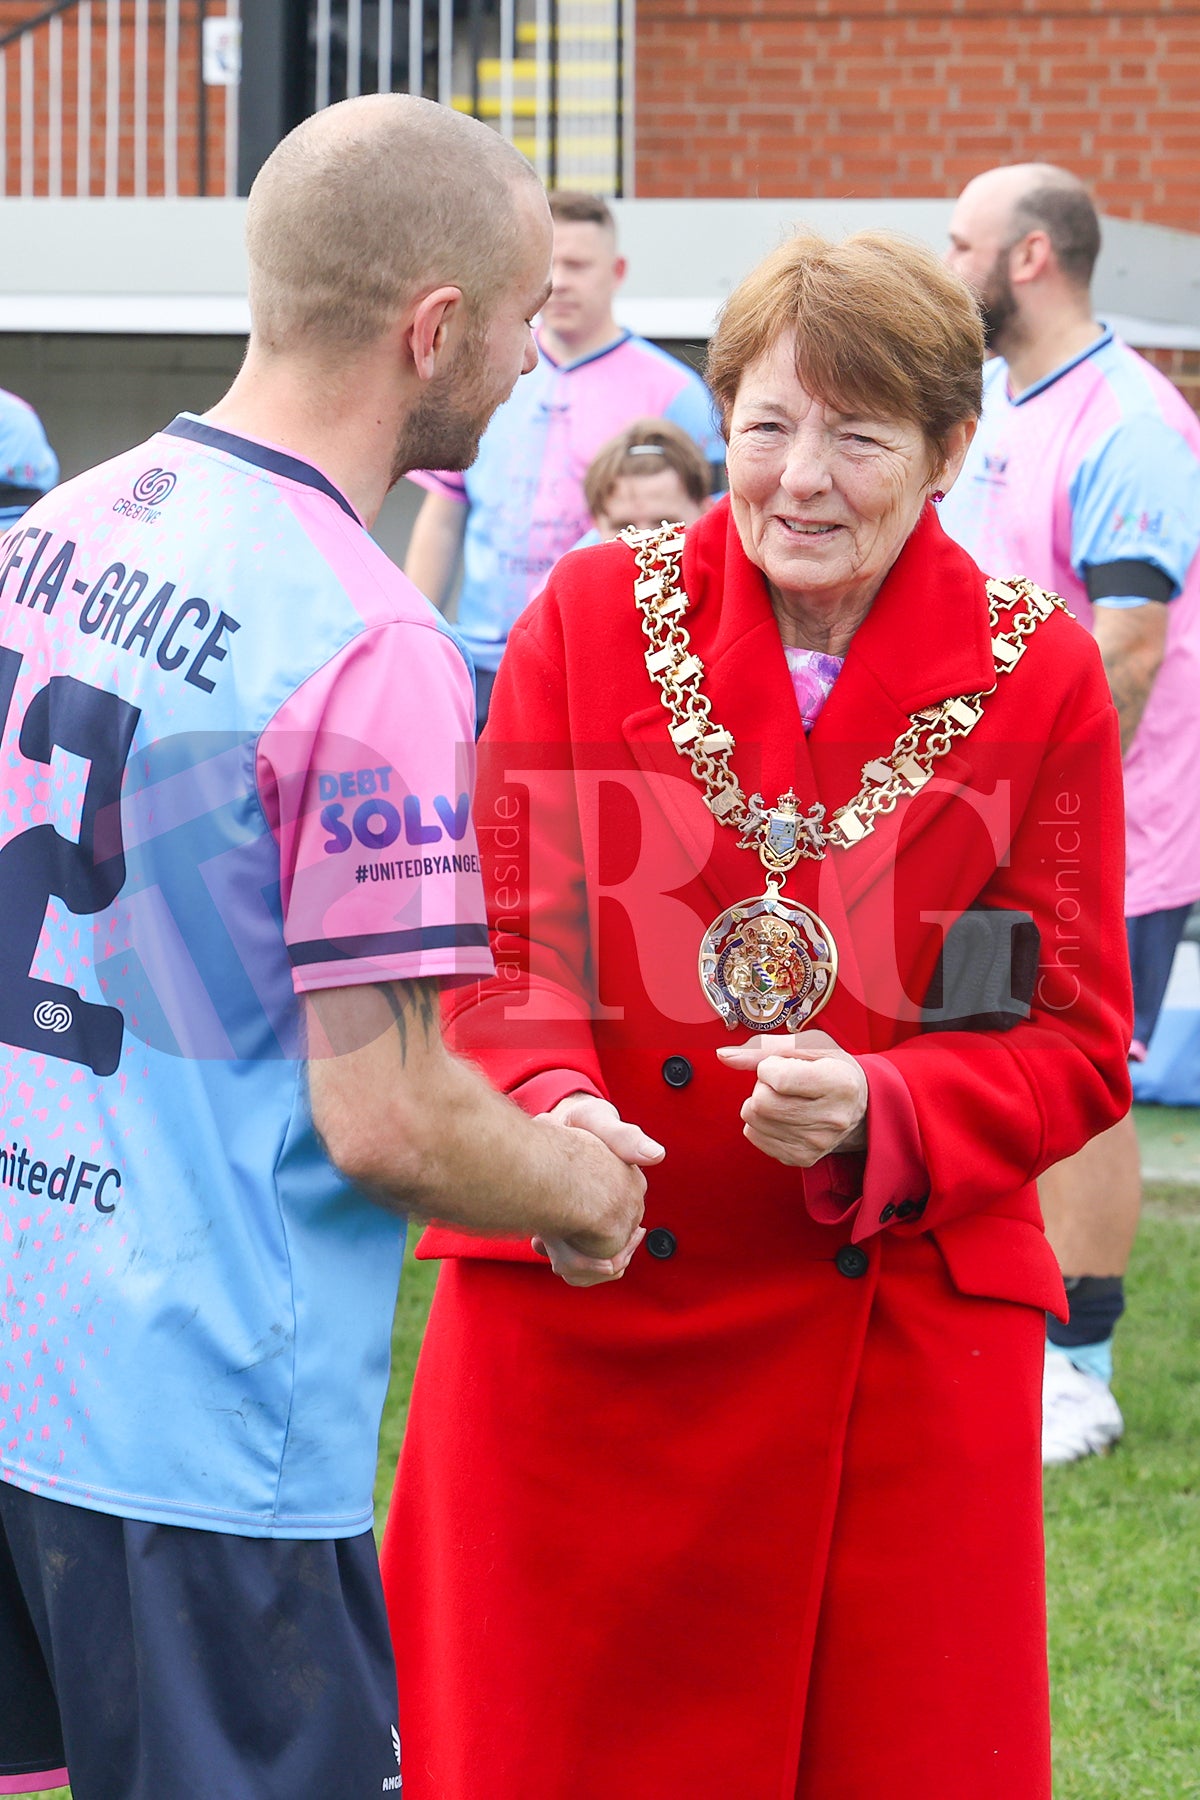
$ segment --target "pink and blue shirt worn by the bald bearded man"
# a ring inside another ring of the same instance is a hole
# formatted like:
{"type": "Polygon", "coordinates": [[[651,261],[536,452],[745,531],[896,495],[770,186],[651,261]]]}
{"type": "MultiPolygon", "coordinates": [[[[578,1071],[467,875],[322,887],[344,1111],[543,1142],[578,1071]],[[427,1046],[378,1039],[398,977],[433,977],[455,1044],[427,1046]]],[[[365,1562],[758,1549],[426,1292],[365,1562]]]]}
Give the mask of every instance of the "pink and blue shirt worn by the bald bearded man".
{"type": "Polygon", "coordinates": [[[1052,589],[1088,628],[1088,569],[1144,562],[1166,576],[1166,655],[1124,758],[1124,911],[1200,898],[1196,414],[1112,331],[1016,398],[995,358],[975,443],[939,511],[988,574],[1052,589]]]}

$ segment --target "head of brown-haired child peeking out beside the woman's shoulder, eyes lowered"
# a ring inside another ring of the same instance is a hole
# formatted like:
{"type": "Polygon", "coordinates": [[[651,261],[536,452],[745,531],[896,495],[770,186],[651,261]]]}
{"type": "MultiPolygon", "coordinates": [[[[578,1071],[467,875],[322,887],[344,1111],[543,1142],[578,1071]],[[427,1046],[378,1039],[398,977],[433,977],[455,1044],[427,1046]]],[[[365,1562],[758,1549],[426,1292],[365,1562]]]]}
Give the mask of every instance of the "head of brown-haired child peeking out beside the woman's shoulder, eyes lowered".
{"type": "Polygon", "coordinates": [[[596,520],[581,544],[606,544],[626,526],[691,526],[709,506],[709,464],[669,419],[633,419],[596,454],[583,493],[596,520]]]}

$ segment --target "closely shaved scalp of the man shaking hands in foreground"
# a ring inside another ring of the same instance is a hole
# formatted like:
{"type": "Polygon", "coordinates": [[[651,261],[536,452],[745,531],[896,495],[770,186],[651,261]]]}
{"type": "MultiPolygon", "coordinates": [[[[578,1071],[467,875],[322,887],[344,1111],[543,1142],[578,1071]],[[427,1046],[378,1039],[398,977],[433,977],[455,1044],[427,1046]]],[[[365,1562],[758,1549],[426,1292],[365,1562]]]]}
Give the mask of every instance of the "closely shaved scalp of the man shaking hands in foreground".
{"type": "Polygon", "coordinates": [[[313,113],[250,189],[255,346],[345,353],[443,284],[479,315],[520,270],[531,191],[511,144],[434,101],[371,94],[313,113]]]}

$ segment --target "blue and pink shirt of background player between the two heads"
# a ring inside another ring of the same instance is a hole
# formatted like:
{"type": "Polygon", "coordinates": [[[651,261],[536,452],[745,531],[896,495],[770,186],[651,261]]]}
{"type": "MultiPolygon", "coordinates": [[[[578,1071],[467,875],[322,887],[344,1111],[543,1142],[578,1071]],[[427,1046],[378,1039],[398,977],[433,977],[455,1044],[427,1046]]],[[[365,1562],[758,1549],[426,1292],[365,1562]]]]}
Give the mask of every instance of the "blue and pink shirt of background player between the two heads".
{"type": "Polygon", "coordinates": [[[669,419],[712,464],[725,461],[712,400],[700,376],[646,338],[538,365],[491,418],[466,473],[410,481],[468,511],[457,630],[475,668],[495,671],[509,630],[558,558],[592,526],[583,477],[601,445],[642,416],[669,419]]]}

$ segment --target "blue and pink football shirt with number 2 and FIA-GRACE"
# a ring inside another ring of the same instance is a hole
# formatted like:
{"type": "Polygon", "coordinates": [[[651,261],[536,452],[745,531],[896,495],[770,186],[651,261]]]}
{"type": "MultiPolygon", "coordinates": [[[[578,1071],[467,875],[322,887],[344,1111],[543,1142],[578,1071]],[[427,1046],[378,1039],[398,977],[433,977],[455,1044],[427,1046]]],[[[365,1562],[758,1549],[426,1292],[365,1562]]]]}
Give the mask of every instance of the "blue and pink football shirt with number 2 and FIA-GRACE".
{"type": "Polygon", "coordinates": [[[300,995],[491,968],[462,652],[320,470],[182,416],[0,542],[0,727],[4,1478],[362,1532],[403,1224],[300,995]]]}

